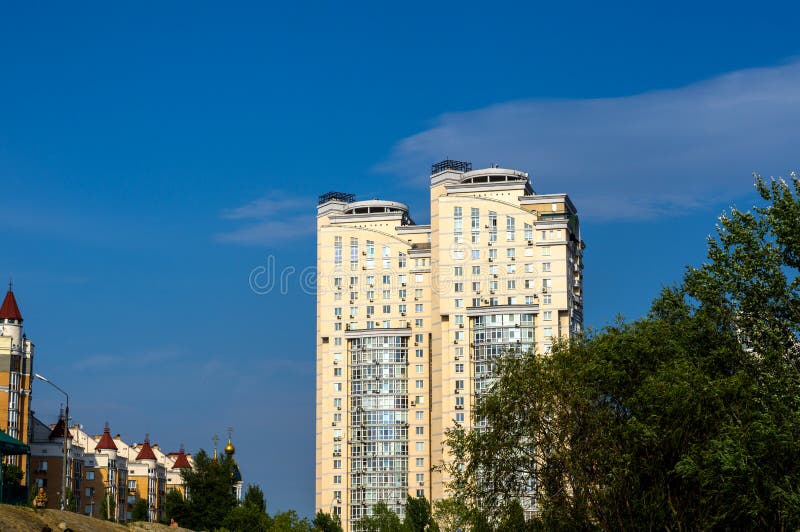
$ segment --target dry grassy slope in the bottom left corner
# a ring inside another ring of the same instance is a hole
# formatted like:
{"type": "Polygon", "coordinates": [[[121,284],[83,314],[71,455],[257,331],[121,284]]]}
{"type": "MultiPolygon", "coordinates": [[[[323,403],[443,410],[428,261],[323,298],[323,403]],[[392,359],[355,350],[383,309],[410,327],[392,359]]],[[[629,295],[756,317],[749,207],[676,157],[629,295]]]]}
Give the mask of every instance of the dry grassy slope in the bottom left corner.
{"type": "Polygon", "coordinates": [[[127,525],[101,521],[85,515],[60,510],[34,510],[24,506],[0,504],[0,530],[3,532],[41,532],[49,526],[53,532],[71,528],[75,532],[175,532],[185,528],[170,528],[157,523],[130,523],[127,525]]]}

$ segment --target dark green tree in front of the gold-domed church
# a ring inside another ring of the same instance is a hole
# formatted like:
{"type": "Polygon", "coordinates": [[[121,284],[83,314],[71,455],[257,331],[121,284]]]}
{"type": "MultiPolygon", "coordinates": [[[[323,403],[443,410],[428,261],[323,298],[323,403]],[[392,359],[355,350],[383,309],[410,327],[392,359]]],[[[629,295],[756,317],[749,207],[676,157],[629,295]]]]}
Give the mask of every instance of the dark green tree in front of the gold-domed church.
{"type": "Polygon", "coordinates": [[[188,512],[183,521],[179,521],[180,525],[199,530],[221,526],[236,506],[232,459],[226,456],[213,460],[201,449],[194,457],[192,469],[184,469],[181,474],[189,500],[188,512]]]}

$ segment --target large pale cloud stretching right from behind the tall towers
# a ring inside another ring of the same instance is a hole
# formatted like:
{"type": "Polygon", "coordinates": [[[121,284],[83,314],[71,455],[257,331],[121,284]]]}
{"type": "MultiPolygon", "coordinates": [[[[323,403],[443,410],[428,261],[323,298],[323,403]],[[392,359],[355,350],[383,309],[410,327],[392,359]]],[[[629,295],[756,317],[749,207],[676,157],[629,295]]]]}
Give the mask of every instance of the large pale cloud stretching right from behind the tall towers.
{"type": "MultiPolygon", "coordinates": [[[[590,82],[590,80],[587,80],[590,82]]],[[[680,214],[800,166],[800,61],[620,98],[525,100],[440,116],[380,169],[420,176],[449,156],[530,172],[595,219],[680,214]]]]}

